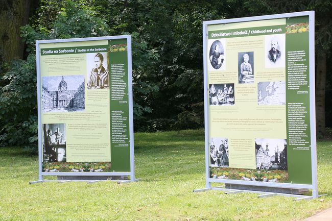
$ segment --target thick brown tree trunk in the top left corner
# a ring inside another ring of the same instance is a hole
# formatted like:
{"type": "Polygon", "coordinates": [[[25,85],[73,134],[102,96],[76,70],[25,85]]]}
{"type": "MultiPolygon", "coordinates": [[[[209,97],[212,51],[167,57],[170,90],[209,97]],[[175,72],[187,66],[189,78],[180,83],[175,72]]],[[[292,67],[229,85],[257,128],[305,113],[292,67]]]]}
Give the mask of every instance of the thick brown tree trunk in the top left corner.
{"type": "Polygon", "coordinates": [[[20,27],[29,21],[31,0],[0,0],[0,64],[22,58],[20,27]]]}

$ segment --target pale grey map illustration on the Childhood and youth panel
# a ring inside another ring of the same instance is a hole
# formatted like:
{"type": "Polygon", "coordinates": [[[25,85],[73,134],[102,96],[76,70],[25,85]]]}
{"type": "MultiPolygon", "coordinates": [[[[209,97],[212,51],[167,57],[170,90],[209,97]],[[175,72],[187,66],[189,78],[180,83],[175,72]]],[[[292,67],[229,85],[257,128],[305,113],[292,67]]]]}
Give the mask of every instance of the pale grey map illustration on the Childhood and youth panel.
{"type": "Polygon", "coordinates": [[[286,105],[286,82],[258,82],[258,105],[286,105]]]}

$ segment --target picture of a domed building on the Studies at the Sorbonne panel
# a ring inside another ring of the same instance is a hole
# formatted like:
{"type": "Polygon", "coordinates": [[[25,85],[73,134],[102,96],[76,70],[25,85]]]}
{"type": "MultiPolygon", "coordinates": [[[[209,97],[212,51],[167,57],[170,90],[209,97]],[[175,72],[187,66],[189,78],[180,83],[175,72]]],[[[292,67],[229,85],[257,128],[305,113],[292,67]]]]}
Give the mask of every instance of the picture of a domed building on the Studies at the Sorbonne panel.
{"type": "Polygon", "coordinates": [[[42,111],[84,111],[84,88],[84,75],[42,77],[42,111]]]}

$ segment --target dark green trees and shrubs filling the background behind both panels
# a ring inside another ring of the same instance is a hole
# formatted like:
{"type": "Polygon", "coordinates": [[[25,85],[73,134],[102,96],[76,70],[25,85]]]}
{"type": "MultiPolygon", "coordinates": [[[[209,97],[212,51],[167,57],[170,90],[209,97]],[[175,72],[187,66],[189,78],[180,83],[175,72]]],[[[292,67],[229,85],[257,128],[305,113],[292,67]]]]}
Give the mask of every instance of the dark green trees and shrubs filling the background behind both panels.
{"type": "Polygon", "coordinates": [[[316,12],[323,137],[332,126],[331,9],[330,1],[304,0],[2,0],[0,145],[36,146],[35,40],[132,35],[135,130],[196,129],[204,125],[202,21],[306,10],[316,12]]]}

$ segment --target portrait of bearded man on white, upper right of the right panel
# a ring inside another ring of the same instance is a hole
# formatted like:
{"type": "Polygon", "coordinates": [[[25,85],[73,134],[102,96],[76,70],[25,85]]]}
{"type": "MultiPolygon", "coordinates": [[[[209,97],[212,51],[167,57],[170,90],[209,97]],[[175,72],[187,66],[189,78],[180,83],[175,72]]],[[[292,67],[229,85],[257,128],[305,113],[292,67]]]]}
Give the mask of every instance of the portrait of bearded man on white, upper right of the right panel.
{"type": "Polygon", "coordinates": [[[285,67],[285,35],[265,36],[265,67],[285,67]]]}

